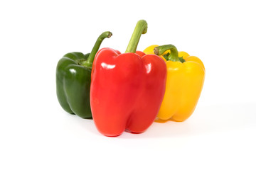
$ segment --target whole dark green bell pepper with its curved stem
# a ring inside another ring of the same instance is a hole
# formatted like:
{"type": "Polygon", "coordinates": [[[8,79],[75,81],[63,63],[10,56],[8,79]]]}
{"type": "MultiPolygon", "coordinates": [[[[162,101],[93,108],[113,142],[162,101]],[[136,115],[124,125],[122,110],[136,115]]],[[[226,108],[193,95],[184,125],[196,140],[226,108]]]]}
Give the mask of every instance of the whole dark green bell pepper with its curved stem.
{"type": "Polygon", "coordinates": [[[90,80],[92,62],[102,40],[110,38],[105,32],[97,38],[91,53],[70,52],[62,57],[56,69],[56,90],[60,106],[70,114],[92,118],[90,109],[90,80]]]}

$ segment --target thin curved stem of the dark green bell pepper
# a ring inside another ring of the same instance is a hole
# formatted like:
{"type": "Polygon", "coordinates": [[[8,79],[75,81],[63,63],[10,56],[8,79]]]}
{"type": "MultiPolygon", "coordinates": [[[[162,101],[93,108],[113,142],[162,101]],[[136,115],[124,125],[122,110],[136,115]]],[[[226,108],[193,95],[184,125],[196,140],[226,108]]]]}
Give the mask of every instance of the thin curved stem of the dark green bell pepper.
{"type": "Polygon", "coordinates": [[[99,38],[97,38],[97,41],[95,42],[95,45],[94,47],[92,48],[92,52],[90,52],[90,55],[89,57],[87,58],[87,60],[85,62],[82,62],[81,64],[85,67],[89,67],[89,68],[92,68],[92,63],[93,63],[93,60],[95,58],[95,55],[97,53],[97,51],[99,50],[100,48],[100,45],[102,43],[102,41],[105,39],[105,38],[110,38],[112,36],[112,33],[110,31],[106,31],[104,33],[102,33],[99,38]]]}

